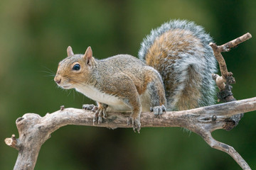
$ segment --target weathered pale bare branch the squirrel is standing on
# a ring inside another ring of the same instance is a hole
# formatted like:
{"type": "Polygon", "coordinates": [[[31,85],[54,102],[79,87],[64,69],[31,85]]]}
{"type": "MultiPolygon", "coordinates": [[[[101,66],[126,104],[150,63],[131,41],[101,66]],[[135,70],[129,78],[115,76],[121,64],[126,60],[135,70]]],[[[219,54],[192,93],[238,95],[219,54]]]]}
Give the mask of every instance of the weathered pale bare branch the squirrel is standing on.
{"type": "MultiPolygon", "coordinates": [[[[35,113],[26,113],[16,120],[18,128],[18,145],[15,137],[7,138],[6,145],[18,149],[18,158],[14,169],[33,169],[36,164],[38,152],[50,134],[65,125],[87,125],[106,128],[132,128],[127,125],[129,113],[109,113],[101,124],[93,125],[94,114],[77,108],[65,108],[41,117],[35,113]]],[[[256,110],[256,97],[241,101],[222,103],[203,108],[194,108],[188,111],[167,112],[161,118],[155,118],[153,113],[142,113],[142,127],[183,127],[201,135],[204,140],[215,149],[230,154],[242,169],[250,166],[235,152],[233,147],[217,142],[211,137],[210,132],[225,129],[230,116],[256,110]]],[[[143,130],[142,130],[143,132],[143,130]]]]}

